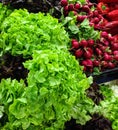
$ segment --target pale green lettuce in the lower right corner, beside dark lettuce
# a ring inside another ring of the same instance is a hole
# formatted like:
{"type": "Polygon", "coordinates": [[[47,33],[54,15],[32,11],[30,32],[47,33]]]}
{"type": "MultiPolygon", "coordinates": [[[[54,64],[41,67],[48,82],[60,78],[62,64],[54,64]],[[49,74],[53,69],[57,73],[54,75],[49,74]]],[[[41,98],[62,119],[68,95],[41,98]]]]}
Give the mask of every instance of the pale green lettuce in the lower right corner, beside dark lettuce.
{"type": "Polygon", "coordinates": [[[118,129],[118,97],[114,95],[113,90],[109,85],[101,85],[101,93],[104,100],[100,105],[96,106],[95,111],[104,115],[112,122],[112,129],[118,129]]]}

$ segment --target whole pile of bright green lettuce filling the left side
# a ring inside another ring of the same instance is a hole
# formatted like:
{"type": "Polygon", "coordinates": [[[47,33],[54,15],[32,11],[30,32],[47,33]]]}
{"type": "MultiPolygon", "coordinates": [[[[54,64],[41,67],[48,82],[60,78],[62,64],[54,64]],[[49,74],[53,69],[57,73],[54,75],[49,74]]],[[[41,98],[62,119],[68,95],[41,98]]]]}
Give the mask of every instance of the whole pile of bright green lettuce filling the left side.
{"type": "MultiPolygon", "coordinates": [[[[28,73],[25,79],[1,79],[1,130],[63,130],[71,118],[80,124],[91,119],[94,103],[86,89],[92,79],[70,55],[68,33],[57,19],[11,10],[1,22],[0,42],[1,56],[25,58],[20,67],[28,73]]],[[[13,68],[8,71],[14,74],[13,68]]]]}

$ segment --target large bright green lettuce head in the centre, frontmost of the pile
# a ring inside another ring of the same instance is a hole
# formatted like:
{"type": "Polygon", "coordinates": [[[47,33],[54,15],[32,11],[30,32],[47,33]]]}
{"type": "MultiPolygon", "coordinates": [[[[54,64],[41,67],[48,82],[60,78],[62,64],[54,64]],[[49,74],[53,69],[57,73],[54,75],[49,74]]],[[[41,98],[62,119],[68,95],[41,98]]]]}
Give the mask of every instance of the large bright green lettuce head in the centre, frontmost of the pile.
{"type": "MultiPolygon", "coordinates": [[[[63,129],[64,122],[71,117],[78,119],[78,122],[82,124],[90,119],[87,115],[89,109],[84,108],[85,102],[92,107],[92,102],[85,95],[90,82],[74,56],[61,50],[35,51],[33,60],[26,61],[24,65],[29,70],[27,81],[30,86],[27,90],[37,86],[38,90],[35,94],[40,94],[33,102],[36,102],[35,104],[38,104],[37,100],[40,102],[37,106],[40,109],[37,108],[37,110],[45,117],[42,118],[43,120],[38,120],[41,124],[44,122],[45,126],[42,127],[63,129]]],[[[25,95],[28,96],[28,94],[29,91],[25,95]]],[[[33,106],[32,104],[32,108],[33,106]]]]}

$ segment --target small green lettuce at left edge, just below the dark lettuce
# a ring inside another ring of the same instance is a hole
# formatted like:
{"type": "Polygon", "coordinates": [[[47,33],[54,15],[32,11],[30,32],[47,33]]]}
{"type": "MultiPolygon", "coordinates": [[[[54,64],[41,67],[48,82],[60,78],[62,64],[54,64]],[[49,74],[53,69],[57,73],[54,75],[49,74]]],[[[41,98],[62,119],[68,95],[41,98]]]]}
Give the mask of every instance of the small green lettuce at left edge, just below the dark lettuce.
{"type": "Polygon", "coordinates": [[[24,91],[24,81],[2,79],[0,83],[0,104],[10,104],[14,98],[20,97],[24,91]]]}

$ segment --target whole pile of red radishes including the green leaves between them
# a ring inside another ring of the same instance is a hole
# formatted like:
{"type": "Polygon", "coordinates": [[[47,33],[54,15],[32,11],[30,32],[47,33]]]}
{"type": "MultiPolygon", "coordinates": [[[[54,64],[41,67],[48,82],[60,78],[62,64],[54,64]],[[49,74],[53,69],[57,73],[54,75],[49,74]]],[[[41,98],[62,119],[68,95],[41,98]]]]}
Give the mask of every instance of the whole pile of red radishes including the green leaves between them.
{"type": "Polygon", "coordinates": [[[102,10],[105,5],[67,0],[61,0],[61,5],[61,20],[71,38],[70,51],[84,66],[84,71],[97,74],[117,67],[118,42],[106,30],[110,23],[105,19],[107,9],[102,10]]]}

